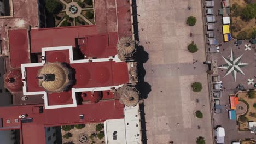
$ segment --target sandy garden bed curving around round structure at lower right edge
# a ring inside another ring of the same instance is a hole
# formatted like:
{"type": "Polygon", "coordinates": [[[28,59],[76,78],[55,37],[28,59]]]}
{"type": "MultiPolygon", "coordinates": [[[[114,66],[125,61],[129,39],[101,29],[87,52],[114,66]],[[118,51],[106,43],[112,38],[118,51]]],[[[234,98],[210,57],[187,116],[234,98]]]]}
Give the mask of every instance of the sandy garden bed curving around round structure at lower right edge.
{"type": "MultiPolygon", "coordinates": [[[[240,92],[238,98],[240,103],[245,103],[247,106],[243,107],[243,109],[247,109],[247,111],[243,115],[237,117],[239,130],[249,130],[248,121],[256,122],[256,92],[240,92]]],[[[238,107],[238,109],[240,109],[240,107],[238,107]]]]}

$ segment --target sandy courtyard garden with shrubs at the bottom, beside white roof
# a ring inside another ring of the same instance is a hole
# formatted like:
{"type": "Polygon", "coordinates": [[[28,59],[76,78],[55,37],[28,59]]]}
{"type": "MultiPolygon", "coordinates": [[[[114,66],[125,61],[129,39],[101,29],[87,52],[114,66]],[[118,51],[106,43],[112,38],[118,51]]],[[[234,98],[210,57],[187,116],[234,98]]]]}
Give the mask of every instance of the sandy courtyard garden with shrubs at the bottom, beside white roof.
{"type": "Polygon", "coordinates": [[[61,127],[62,143],[104,143],[104,124],[63,125],[61,127]]]}

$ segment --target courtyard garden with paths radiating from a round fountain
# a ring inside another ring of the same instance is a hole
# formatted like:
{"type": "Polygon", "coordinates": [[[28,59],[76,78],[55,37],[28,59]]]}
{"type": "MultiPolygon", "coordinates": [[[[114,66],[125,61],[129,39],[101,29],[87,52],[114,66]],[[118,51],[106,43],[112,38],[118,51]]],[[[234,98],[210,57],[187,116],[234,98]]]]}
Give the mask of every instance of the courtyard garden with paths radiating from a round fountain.
{"type": "Polygon", "coordinates": [[[46,0],[55,27],[95,25],[93,0],[46,0]]]}

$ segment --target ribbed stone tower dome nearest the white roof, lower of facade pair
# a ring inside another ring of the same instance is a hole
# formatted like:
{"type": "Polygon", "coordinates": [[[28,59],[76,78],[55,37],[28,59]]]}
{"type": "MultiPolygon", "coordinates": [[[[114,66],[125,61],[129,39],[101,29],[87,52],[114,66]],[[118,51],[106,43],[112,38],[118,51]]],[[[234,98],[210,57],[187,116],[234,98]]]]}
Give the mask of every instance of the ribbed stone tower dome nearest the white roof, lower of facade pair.
{"type": "Polygon", "coordinates": [[[126,106],[136,106],[139,101],[139,95],[138,92],[136,92],[133,89],[126,89],[121,95],[120,100],[126,105],[126,106]]]}

